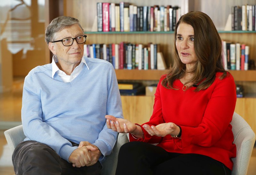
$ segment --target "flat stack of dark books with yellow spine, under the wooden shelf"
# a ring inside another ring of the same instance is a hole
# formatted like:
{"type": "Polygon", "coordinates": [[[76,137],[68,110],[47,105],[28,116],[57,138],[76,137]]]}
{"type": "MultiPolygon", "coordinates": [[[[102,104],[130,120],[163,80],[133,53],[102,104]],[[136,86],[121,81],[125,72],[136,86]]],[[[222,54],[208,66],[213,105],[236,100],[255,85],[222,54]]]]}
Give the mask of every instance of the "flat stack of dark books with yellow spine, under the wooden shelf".
{"type": "Polygon", "coordinates": [[[145,95],[145,87],[139,82],[118,82],[120,95],[145,95]]]}

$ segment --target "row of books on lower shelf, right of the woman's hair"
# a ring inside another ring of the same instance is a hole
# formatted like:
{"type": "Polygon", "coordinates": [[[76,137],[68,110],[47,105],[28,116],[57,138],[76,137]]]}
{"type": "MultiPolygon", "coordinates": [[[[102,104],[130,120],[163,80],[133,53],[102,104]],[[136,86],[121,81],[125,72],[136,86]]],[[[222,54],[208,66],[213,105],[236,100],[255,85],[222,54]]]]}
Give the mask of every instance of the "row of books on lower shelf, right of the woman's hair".
{"type": "Polygon", "coordinates": [[[222,64],[226,70],[248,70],[249,46],[222,41],[222,49],[222,64]]]}

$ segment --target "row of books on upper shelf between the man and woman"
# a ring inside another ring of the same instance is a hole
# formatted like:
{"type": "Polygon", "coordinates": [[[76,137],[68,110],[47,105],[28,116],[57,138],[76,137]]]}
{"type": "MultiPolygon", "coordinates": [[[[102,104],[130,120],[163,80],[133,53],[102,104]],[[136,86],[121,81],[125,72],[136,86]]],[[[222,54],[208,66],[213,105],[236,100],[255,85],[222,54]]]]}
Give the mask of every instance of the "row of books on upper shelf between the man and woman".
{"type": "Polygon", "coordinates": [[[98,32],[173,31],[180,16],[178,6],[97,3],[98,32]]]}

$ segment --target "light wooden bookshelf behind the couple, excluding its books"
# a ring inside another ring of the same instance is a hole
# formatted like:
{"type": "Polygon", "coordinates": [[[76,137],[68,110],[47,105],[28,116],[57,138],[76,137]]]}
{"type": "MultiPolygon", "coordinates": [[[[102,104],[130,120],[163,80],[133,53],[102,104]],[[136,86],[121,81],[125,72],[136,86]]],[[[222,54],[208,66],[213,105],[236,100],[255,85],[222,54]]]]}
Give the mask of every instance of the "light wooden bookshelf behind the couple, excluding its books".
{"type": "MultiPolygon", "coordinates": [[[[97,15],[97,3],[119,3],[118,0],[59,0],[62,2],[63,14],[80,20],[85,34],[86,44],[92,43],[142,43],[160,44],[160,51],[164,55],[166,65],[171,63],[173,49],[173,32],[92,32],[93,22],[97,15]]],[[[256,32],[255,31],[224,31],[231,6],[242,4],[256,4],[255,0],[126,0],[138,6],[143,5],[178,5],[182,11],[203,11],[208,14],[217,27],[220,37],[225,41],[245,43],[250,46],[250,59],[256,63],[256,32]],[[209,8],[211,7],[211,8],[209,8]],[[216,13],[218,9],[218,13],[216,13]]],[[[116,70],[118,80],[154,81],[158,82],[161,75],[168,70],[116,70]]],[[[244,86],[244,98],[238,98],[235,111],[243,116],[256,133],[256,70],[229,71],[237,84],[244,86]]],[[[136,123],[148,121],[152,114],[154,97],[152,96],[122,96],[124,117],[136,123]]]]}

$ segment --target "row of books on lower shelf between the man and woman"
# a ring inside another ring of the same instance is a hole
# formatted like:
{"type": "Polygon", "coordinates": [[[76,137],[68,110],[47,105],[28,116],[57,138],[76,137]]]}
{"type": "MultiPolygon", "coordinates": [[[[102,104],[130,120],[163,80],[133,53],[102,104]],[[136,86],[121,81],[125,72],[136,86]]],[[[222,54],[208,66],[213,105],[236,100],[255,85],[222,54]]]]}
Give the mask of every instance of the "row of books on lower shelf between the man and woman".
{"type": "Polygon", "coordinates": [[[164,70],[167,68],[159,45],[153,43],[84,44],[84,56],[107,60],[115,69],[164,70]]]}

